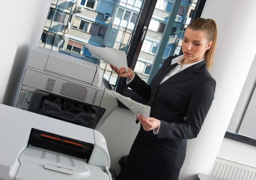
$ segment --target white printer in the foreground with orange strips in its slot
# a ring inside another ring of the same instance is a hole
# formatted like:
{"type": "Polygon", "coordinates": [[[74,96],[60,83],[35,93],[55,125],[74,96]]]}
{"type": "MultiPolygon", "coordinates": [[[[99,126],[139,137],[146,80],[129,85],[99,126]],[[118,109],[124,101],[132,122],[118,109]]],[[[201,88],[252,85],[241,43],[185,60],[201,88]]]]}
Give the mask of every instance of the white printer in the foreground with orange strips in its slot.
{"type": "Polygon", "coordinates": [[[111,180],[99,131],[0,104],[0,180],[111,180]]]}

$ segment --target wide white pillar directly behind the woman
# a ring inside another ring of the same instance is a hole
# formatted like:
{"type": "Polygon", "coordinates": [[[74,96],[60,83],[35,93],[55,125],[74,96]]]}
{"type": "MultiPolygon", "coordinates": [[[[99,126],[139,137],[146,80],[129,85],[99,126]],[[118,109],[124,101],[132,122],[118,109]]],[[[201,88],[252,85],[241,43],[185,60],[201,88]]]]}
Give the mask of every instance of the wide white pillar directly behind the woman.
{"type": "Polygon", "coordinates": [[[256,1],[207,0],[202,17],[218,26],[218,42],[210,73],[217,82],[215,99],[204,125],[189,140],[180,180],[209,174],[256,53],[256,1]]]}

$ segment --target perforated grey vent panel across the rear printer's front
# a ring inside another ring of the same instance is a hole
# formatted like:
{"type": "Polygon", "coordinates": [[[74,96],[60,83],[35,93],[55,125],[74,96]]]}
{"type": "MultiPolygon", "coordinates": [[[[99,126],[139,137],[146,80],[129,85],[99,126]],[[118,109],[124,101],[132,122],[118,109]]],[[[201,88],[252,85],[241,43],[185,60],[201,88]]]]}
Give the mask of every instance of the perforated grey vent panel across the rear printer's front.
{"type": "Polygon", "coordinates": [[[104,94],[104,90],[82,86],[31,69],[26,69],[22,84],[95,106],[100,106],[104,94]]]}

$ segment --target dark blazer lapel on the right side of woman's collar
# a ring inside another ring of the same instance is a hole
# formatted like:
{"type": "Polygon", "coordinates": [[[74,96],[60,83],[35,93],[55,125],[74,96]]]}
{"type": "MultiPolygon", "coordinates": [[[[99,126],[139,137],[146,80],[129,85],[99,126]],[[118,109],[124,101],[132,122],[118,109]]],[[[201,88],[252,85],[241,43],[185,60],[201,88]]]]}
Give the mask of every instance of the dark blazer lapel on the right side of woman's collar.
{"type": "Polygon", "coordinates": [[[174,74],[168,80],[166,80],[165,82],[160,84],[160,86],[165,86],[167,84],[177,83],[177,82],[181,82],[184,80],[192,79],[194,77],[194,73],[202,73],[205,69],[206,69],[206,63],[205,63],[205,61],[202,61],[198,64],[190,66],[187,69],[184,69],[183,71],[180,71],[177,74],[174,74]]]}

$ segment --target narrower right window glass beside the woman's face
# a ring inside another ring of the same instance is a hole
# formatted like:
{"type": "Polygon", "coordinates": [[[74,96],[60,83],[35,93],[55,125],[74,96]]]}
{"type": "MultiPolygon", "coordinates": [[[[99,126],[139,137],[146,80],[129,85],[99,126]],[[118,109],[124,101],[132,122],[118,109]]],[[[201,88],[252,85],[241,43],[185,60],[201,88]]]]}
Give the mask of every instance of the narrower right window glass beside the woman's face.
{"type": "MultiPolygon", "coordinates": [[[[139,77],[141,77],[145,82],[148,82],[150,71],[153,68],[151,66],[157,55],[156,53],[160,51],[160,49],[158,49],[159,46],[157,45],[161,43],[161,38],[164,35],[163,32],[166,28],[166,24],[168,23],[167,20],[171,15],[169,12],[171,12],[172,7],[173,4],[169,3],[167,0],[157,0],[157,5],[148,26],[148,31],[146,33],[140,55],[134,69],[139,77]]],[[[156,59],[160,62],[158,69],[160,69],[166,58],[169,56],[178,55],[180,53],[184,32],[191,20],[189,17],[191,16],[190,12],[193,10],[193,13],[195,7],[195,1],[190,3],[189,0],[182,0],[182,6],[180,6],[179,9],[176,9],[178,12],[175,14],[176,19],[172,30],[165,32],[166,34],[169,34],[169,41],[165,45],[165,49],[161,51],[163,53],[160,55],[162,58],[156,59]],[[183,4],[187,4],[187,6],[183,6],[183,4]],[[184,16],[185,14],[186,16],[184,16]]]]}

